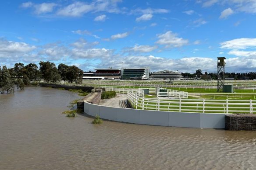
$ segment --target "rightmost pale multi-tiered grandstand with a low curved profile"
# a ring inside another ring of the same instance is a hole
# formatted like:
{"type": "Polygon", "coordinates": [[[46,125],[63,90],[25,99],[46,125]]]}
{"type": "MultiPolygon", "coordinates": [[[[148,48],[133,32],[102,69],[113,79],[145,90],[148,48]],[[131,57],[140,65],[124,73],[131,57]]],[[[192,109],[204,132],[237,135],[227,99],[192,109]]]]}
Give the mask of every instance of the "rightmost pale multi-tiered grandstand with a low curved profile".
{"type": "Polygon", "coordinates": [[[149,76],[149,79],[170,79],[170,80],[177,80],[184,78],[182,74],[178,71],[170,71],[170,70],[164,70],[164,71],[158,71],[151,73],[149,76]]]}

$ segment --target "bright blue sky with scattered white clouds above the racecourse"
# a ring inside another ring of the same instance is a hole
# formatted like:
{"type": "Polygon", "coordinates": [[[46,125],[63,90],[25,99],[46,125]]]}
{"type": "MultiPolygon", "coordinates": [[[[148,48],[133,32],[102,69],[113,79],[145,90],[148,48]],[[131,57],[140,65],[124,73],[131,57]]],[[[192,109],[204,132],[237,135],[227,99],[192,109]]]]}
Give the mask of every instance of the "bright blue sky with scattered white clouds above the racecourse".
{"type": "Polygon", "coordinates": [[[256,71],[256,0],[8,0],[0,66],[256,71]]]}

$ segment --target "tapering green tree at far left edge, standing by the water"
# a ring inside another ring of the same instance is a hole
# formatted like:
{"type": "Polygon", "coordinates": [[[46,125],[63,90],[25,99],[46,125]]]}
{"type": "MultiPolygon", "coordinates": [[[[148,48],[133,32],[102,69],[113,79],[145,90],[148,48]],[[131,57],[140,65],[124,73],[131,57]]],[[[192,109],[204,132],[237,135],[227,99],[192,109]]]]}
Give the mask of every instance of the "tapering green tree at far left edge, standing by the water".
{"type": "Polygon", "coordinates": [[[7,91],[7,94],[14,93],[14,82],[6,66],[3,66],[1,71],[1,93],[7,91]]]}

